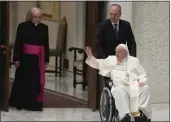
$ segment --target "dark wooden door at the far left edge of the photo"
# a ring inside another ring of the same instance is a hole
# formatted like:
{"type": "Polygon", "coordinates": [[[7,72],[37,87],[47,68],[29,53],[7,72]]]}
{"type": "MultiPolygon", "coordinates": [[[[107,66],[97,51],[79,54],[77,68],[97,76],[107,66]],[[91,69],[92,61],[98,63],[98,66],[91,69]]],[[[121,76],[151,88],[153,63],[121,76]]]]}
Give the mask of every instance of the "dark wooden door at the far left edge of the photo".
{"type": "Polygon", "coordinates": [[[9,98],[9,2],[0,1],[0,108],[8,111],[9,98]]]}

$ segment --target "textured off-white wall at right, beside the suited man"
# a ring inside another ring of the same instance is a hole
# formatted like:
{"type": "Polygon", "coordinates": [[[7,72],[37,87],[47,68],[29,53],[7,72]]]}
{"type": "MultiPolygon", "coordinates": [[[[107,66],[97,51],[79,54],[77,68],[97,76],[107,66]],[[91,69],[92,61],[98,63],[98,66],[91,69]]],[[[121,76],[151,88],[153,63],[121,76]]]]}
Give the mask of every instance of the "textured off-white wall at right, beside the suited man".
{"type": "Polygon", "coordinates": [[[152,102],[169,102],[169,2],[133,2],[137,56],[146,69],[152,102]]]}

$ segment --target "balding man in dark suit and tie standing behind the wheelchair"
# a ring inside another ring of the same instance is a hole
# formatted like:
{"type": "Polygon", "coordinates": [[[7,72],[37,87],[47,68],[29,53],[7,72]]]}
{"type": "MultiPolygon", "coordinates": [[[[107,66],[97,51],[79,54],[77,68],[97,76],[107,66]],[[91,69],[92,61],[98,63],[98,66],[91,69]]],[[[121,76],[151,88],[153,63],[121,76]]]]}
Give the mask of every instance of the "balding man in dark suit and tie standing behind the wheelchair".
{"type": "Polygon", "coordinates": [[[115,48],[121,43],[127,43],[130,55],[136,57],[136,42],[131,25],[120,19],[121,14],[121,6],[112,4],[109,19],[100,23],[97,32],[97,58],[115,55],[115,48]]]}

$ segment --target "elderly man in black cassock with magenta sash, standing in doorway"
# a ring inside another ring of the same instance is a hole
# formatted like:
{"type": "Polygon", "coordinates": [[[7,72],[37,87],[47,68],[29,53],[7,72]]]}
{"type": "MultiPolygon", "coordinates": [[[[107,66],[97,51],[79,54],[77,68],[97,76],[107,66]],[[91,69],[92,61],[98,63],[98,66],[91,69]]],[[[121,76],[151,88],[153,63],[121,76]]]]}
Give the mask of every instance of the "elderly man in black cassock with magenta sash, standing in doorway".
{"type": "Polygon", "coordinates": [[[41,15],[39,8],[32,8],[17,28],[13,57],[16,73],[9,102],[18,110],[43,111],[49,34],[41,15]]]}

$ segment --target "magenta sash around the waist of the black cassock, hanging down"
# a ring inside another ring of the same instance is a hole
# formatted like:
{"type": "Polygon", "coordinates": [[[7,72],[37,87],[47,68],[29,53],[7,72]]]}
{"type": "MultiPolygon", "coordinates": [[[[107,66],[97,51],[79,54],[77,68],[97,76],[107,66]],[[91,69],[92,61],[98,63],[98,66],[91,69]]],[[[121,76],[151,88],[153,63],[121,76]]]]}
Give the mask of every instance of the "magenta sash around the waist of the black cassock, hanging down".
{"type": "Polygon", "coordinates": [[[41,91],[37,100],[39,102],[42,102],[44,99],[44,84],[45,84],[44,46],[24,44],[24,53],[36,54],[39,57],[41,91]]]}

